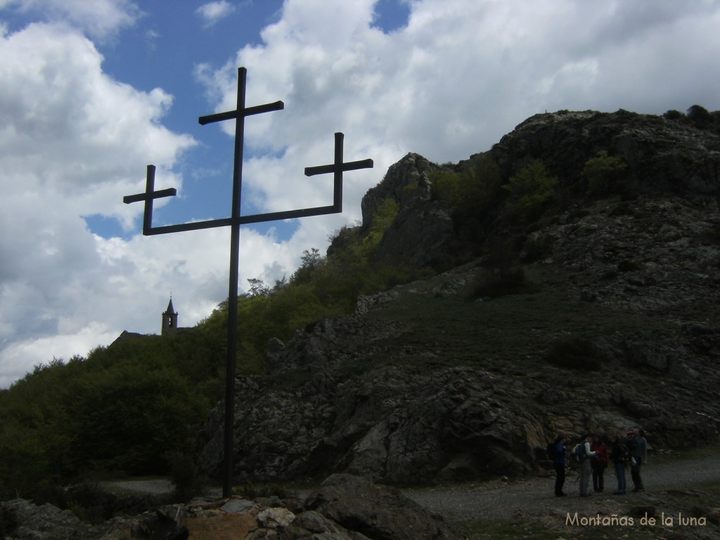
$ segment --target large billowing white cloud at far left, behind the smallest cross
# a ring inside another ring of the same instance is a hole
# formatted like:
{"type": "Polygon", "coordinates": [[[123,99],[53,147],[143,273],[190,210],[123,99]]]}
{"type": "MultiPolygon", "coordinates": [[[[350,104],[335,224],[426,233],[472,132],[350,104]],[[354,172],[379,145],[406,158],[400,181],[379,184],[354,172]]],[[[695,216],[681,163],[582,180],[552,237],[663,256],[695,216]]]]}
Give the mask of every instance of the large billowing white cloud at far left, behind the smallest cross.
{"type": "Polygon", "coordinates": [[[135,298],[143,297],[138,262],[108,258],[81,216],[114,216],[135,228],[142,205],[122,205],[122,197],[144,189],[150,156],[181,185],[171,168],[194,140],[161,125],[171,96],[112,80],[94,45],[66,26],[31,24],[1,37],[0,78],[0,363],[6,370],[17,361],[48,361],[50,343],[57,356],[86,343],[76,350],[84,354],[107,343],[109,328],[122,328],[123,314],[127,323],[117,282],[128,276],[135,298]]]}

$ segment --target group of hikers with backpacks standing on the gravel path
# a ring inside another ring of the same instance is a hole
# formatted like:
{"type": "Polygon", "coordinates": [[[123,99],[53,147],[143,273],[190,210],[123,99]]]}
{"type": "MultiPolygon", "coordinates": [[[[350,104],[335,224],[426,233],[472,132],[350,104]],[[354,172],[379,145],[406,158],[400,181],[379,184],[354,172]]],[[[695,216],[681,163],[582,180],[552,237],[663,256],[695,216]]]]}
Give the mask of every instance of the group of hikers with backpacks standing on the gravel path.
{"type": "Polygon", "coordinates": [[[630,429],[626,436],[617,435],[608,443],[602,436],[587,433],[582,441],[568,446],[569,439],[560,433],[548,445],[548,457],[552,460],[555,469],[555,496],[567,495],[563,490],[565,483],[565,467],[576,463],[580,469],[580,497],[590,495],[590,479],[593,480],[593,491],[605,490],[605,469],[610,464],[615,468],[615,477],[618,485],[614,495],[626,493],[626,471],[630,469],[634,492],[644,491],[640,471],[642,464],[647,462],[647,440],[642,429],[630,429]]]}

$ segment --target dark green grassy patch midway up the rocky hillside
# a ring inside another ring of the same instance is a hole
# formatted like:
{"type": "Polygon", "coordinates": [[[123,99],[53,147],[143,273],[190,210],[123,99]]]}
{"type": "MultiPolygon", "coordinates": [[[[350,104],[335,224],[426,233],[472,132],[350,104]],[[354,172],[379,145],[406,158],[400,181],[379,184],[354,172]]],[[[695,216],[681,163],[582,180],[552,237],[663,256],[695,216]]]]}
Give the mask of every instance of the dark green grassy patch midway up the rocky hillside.
{"type": "MultiPolygon", "coordinates": [[[[462,269],[472,274],[474,266],[476,263],[462,269]]],[[[369,316],[381,321],[402,321],[400,346],[432,352],[433,362],[498,369],[510,374],[526,374],[528,369],[536,369],[551,344],[563,336],[593,340],[621,330],[661,327],[660,320],[652,315],[575,299],[566,287],[570,279],[567,272],[536,265],[529,267],[527,274],[539,285],[538,292],[485,300],[472,300],[472,276],[459,294],[448,297],[427,294],[444,281],[444,276],[437,276],[428,282],[398,287],[400,297],[377,307],[369,316]]],[[[387,359],[395,360],[397,343],[395,337],[387,340],[384,352],[387,359]]]]}

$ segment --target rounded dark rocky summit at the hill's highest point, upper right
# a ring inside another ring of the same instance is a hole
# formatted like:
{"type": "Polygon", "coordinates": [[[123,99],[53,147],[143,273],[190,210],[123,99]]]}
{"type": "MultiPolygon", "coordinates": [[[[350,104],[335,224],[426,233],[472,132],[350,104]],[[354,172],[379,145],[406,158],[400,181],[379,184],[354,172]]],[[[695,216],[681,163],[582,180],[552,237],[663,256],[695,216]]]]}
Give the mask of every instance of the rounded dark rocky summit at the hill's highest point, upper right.
{"type": "Polygon", "coordinates": [[[618,110],[536,114],[492,147],[504,176],[540,159],[564,184],[606,150],[629,165],[633,194],[697,201],[720,194],[720,138],[678,120],[618,110]]]}

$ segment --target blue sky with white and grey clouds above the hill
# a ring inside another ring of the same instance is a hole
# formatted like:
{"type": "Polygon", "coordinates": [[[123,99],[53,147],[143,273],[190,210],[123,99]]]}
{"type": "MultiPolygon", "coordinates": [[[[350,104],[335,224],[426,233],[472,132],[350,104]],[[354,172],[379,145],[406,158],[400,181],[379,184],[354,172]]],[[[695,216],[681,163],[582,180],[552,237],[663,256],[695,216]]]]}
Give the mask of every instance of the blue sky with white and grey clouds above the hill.
{"type": "Polygon", "coordinates": [[[240,291],[289,277],[302,251],[361,219],[408,152],[489,150],[559,109],[720,109],[720,0],[0,0],[0,387],[86,356],[123,330],[159,333],[172,294],[192,326],[228,296],[230,231],[142,235],[230,216],[238,68],[243,215],[332,203],[341,214],[244,225],[240,291]]]}

